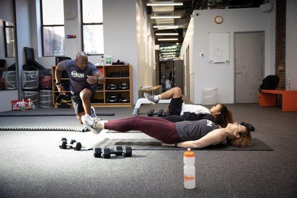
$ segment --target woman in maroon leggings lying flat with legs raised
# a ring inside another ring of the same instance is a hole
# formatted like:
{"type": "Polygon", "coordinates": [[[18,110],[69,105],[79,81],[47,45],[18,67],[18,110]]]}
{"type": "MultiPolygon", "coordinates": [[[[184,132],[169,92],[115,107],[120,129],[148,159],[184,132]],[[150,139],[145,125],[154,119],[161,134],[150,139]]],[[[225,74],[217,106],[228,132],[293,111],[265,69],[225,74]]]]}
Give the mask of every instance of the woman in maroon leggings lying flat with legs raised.
{"type": "Polygon", "coordinates": [[[157,117],[134,116],[116,120],[100,120],[88,114],[82,116],[84,125],[99,134],[102,129],[118,132],[141,131],[162,141],[162,146],[203,148],[225,140],[235,147],[250,147],[251,136],[247,127],[237,123],[221,128],[210,120],[169,122],[157,117]]]}

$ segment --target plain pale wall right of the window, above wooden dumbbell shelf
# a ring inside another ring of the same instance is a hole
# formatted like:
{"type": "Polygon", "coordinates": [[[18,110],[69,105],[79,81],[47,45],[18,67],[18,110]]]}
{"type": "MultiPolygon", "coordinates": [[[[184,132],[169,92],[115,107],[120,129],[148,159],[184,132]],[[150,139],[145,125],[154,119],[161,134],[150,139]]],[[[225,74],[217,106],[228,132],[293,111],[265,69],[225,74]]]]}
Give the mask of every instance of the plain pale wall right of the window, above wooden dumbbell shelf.
{"type": "Polygon", "coordinates": [[[135,0],[103,0],[104,55],[133,66],[133,100],[138,98],[135,0]]]}

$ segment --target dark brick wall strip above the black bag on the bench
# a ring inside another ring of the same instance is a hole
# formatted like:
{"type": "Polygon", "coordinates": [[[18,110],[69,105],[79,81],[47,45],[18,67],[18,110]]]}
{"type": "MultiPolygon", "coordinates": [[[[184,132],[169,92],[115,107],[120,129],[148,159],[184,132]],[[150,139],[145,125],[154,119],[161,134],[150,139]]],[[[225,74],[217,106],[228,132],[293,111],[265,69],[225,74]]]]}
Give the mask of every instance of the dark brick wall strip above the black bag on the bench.
{"type": "Polygon", "coordinates": [[[286,84],[286,0],[276,0],[275,73],[280,77],[278,89],[286,84]]]}

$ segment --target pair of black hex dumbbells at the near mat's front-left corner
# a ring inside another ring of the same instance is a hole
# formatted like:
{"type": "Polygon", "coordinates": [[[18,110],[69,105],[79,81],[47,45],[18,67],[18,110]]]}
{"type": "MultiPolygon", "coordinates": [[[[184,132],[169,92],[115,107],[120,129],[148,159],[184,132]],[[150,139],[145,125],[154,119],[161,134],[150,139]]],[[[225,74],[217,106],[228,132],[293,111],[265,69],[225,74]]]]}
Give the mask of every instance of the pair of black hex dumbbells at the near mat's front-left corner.
{"type": "Polygon", "coordinates": [[[124,149],[121,146],[115,146],[113,149],[110,148],[93,148],[93,155],[94,157],[102,157],[103,158],[110,158],[110,154],[115,154],[116,156],[122,156],[124,153],[125,157],[131,157],[132,156],[132,148],[131,147],[125,147],[124,149]]]}

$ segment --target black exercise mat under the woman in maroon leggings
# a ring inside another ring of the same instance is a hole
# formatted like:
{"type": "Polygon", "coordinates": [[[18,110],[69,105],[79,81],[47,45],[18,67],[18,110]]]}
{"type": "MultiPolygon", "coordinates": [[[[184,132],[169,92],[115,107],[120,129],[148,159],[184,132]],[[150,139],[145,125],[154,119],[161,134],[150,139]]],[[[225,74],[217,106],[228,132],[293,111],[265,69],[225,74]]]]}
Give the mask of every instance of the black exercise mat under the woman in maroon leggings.
{"type": "MultiPolygon", "coordinates": [[[[186,150],[186,148],[179,147],[165,147],[160,145],[160,141],[155,139],[109,139],[104,138],[92,148],[113,148],[115,145],[118,146],[130,146],[133,150],[186,150]]],[[[226,142],[209,146],[205,148],[193,149],[193,150],[273,150],[265,143],[257,138],[251,139],[252,146],[248,148],[232,147],[227,145],[226,142]]]]}

